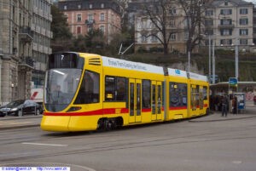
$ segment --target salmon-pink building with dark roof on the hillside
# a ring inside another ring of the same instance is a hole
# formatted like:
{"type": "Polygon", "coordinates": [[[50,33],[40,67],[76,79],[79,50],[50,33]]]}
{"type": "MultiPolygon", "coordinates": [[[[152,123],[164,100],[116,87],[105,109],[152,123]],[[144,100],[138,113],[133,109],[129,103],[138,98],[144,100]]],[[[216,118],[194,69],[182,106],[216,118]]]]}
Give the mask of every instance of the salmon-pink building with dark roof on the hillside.
{"type": "Polygon", "coordinates": [[[119,5],[113,0],[62,0],[58,6],[67,16],[68,26],[74,36],[100,29],[109,42],[113,34],[121,32],[119,5]]]}

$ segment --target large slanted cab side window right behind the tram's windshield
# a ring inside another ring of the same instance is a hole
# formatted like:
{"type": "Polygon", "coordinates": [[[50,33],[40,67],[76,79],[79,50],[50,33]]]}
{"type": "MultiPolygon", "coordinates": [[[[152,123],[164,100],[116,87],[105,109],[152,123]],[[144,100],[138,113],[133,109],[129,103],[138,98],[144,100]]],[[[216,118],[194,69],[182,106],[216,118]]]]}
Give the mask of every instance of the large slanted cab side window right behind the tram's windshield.
{"type": "Polygon", "coordinates": [[[100,101],[100,74],[84,71],[84,78],[74,104],[90,104],[100,101]]]}

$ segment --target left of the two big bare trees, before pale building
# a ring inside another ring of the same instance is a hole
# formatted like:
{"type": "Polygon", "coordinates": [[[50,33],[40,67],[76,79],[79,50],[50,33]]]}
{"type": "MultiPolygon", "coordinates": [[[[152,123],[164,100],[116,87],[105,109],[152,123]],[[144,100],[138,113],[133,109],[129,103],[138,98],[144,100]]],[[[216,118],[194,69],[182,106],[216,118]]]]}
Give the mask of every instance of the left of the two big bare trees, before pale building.
{"type": "MultiPolygon", "coordinates": [[[[177,29],[172,29],[171,20],[175,17],[170,14],[170,9],[177,3],[177,0],[150,0],[141,4],[139,16],[151,21],[151,28],[148,30],[147,37],[154,36],[163,45],[164,54],[168,54],[168,44],[172,34],[177,33],[177,29]]],[[[145,31],[147,31],[146,28],[145,31]]]]}

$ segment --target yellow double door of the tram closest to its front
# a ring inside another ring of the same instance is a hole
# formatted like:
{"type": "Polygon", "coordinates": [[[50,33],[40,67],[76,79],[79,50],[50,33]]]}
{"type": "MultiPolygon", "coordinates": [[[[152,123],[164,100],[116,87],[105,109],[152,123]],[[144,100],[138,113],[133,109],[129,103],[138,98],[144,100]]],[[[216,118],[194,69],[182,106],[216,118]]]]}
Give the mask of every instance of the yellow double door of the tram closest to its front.
{"type": "Polygon", "coordinates": [[[129,123],[142,122],[142,80],[130,79],[129,89],[129,123]]]}

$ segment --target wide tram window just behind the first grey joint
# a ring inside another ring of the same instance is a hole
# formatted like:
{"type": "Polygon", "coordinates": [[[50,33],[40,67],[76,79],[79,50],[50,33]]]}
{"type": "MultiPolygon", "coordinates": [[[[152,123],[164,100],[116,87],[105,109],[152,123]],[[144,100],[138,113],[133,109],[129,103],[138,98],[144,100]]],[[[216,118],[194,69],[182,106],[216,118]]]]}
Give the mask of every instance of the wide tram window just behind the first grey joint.
{"type": "Polygon", "coordinates": [[[170,107],[187,106],[187,84],[170,82],[170,107]]]}

